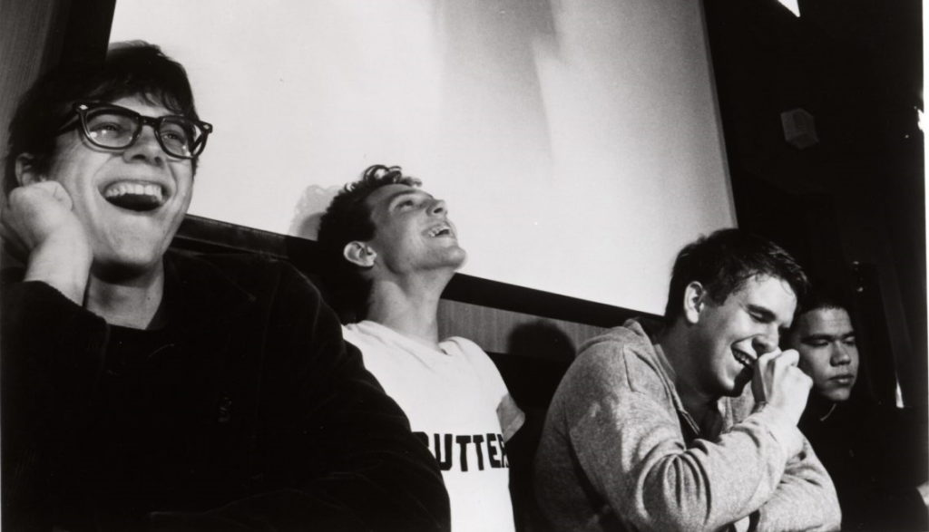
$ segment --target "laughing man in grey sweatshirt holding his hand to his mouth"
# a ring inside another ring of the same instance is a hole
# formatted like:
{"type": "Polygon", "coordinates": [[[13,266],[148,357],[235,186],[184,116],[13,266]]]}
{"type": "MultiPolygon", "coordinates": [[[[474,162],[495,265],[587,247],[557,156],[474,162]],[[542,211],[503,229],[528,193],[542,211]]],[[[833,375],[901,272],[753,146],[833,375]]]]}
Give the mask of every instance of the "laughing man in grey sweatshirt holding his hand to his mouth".
{"type": "Polygon", "coordinates": [[[796,428],[810,380],[777,348],[805,286],[788,253],[738,229],[687,245],[663,329],[630,320],[595,338],[558,386],[536,456],[552,526],[837,528],[796,428]]]}

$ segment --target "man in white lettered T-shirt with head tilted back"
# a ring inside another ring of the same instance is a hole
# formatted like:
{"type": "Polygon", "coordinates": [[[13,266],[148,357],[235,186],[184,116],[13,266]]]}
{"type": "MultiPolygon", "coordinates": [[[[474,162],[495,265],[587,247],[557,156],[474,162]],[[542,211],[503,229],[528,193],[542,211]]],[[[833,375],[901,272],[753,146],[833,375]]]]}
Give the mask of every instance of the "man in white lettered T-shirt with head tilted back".
{"type": "Polygon", "coordinates": [[[513,530],[505,443],[523,413],[477,344],[438,338],[439,296],[465,258],[445,201],[375,165],[335,197],[320,242],[344,272],[336,297],[363,318],[346,340],[436,457],[452,530],[513,530]]]}

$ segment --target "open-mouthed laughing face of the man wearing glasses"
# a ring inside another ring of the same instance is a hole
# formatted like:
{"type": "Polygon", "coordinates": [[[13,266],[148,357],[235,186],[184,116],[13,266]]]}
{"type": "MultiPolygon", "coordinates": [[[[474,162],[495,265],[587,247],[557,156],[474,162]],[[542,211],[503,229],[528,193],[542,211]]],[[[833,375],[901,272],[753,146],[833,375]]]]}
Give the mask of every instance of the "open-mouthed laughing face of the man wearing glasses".
{"type": "MultiPolygon", "coordinates": [[[[151,117],[174,114],[137,97],[111,102],[151,117]]],[[[190,160],[164,152],[150,126],[127,149],[100,149],[78,128],[59,135],[45,178],[71,195],[102,278],[143,275],[162,255],[190,205],[190,160]]]]}

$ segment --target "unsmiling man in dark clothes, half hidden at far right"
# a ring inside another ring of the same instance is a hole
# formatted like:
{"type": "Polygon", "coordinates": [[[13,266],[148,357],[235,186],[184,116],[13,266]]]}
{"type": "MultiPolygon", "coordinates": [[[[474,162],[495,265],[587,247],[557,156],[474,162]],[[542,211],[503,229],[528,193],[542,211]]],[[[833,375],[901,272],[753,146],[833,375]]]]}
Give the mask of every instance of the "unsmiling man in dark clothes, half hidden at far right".
{"type": "Polygon", "coordinates": [[[843,530],[925,530],[925,422],[855,393],[860,357],[849,308],[841,292],[818,289],[786,336],[813,379],[800,430],[835,482],[843,530]]]}

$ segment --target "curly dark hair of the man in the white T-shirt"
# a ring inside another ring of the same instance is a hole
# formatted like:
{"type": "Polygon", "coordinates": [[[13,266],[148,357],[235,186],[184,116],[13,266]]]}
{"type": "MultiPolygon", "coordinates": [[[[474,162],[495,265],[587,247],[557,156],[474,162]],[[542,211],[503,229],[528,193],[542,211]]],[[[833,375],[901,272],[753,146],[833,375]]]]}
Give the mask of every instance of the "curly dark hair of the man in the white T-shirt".
{"type": "Polygon", "coordinates": [[[375,190],[387,185],[420,187],[422,182],[403,175],[399,166],[374,164],[361,174],[358,181],[342,188],[322,214],[317,237],[323,256],[321,277],[332,296],[330,303],[343,317],[364,317],[371,280],[365,279],[360,267],[349,263],[342,252],[348,242],[373,239],[376,227],[367,200],[375,190]]]}

